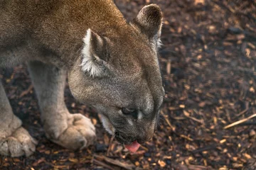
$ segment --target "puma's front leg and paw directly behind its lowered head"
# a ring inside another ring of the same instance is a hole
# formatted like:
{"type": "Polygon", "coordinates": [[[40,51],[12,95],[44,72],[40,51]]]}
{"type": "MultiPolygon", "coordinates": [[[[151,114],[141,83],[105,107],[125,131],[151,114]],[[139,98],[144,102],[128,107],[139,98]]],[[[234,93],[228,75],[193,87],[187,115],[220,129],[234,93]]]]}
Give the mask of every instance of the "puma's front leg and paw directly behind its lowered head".
{"type": "Polygon", "coordinates": [[[64,102],[65,71],[42,62],[28,64],[41,108],[46,137],[68,149],[82,149],[95,140],[89,118],[70,114],[64,102]]]}

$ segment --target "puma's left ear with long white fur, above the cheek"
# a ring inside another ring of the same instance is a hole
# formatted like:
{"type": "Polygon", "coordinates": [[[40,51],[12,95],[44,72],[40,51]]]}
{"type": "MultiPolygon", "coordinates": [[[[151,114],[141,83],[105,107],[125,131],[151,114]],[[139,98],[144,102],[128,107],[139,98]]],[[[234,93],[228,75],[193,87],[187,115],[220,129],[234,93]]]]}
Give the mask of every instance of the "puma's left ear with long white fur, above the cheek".
{"type": "Polygon", "coordinates": [[[103,77],[106,75],[106,45],[100,35],[88,29],[83,38],[85,46],[82,49],[82,71],[91,77],[103,77]]]}

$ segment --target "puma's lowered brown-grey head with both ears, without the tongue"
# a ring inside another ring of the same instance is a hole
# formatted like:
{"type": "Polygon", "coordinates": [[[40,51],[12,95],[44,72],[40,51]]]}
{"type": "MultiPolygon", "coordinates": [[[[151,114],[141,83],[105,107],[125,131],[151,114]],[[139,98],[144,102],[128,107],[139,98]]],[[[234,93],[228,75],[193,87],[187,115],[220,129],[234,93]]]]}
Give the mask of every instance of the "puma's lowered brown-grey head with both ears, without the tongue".
{"type": "Polygon", "coordinates": [[[146,142],[156,129],[164,96],[157,58],[161,23],[159,6],[149,5],[115,33],[88,29],[69,72],[75,98],[97,108],[105,129],[124,144],[146,142]]]}

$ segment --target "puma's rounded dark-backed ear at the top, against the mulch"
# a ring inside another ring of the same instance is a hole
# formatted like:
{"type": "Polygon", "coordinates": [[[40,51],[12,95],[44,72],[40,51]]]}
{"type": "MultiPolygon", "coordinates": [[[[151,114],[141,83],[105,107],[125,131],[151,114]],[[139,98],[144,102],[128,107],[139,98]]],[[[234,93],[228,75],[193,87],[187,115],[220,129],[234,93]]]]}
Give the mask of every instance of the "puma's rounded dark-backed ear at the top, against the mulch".
{"type": "Polygon", "coordinates": [[[159,6],[156,4],[144,6],[144,8],[139,11],[137,17],[132,21],[132,25],[139,28],[156,47],[161,46],[162,13],[159,6]]]}

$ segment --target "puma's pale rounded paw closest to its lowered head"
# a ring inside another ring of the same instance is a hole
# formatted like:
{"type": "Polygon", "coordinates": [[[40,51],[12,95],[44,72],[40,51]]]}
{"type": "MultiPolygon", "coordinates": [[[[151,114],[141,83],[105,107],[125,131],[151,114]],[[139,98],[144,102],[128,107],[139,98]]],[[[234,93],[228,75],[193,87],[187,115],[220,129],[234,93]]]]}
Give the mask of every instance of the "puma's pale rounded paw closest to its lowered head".
{"type": "Polygon", "coordinates": [[[68,127],[60,130],[65,126],[51,127],[51,131],[46,130],[46,136],[58,145],[68,149],[83,149],[95,142],[95,126],[89,118],[81,114],[68,115],[68,127]],[[62,132],[60,132],[62,131],[62,132]],[[58,135],[56,135],[58,134],[58,135]]]}

